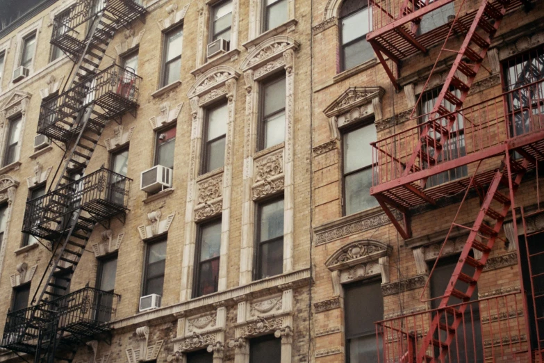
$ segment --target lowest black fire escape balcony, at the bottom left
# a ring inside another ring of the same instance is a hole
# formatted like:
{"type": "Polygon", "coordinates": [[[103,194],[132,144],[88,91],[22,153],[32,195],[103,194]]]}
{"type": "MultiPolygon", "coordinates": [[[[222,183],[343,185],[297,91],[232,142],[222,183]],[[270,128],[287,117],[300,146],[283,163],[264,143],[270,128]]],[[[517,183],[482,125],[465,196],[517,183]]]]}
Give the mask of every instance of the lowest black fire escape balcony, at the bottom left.
{"type": "Polygon", "coordinates": [[[106,332],[115,320],[119,298],[115,293],[84,287],[40,305],[8,312],[1,346],[34,353],[38,334],[52,323],[57,331],[72,334],[74,340],[106,332]]]}

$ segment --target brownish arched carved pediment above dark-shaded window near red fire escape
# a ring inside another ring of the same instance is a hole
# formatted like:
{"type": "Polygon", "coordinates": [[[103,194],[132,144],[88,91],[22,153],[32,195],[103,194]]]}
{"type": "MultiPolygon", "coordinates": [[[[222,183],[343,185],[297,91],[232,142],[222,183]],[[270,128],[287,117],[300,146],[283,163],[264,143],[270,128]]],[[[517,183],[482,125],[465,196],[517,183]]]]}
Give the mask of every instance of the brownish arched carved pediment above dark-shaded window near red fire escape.
{"type": "Polygon", "coordinates": [[[325,261],[325,266],[330,271],[350,268],[368,261],[378,261],[380,257],[389,256],[392,250],[392,246],[379,241],[354,241],[334,252],[325,261]]]}

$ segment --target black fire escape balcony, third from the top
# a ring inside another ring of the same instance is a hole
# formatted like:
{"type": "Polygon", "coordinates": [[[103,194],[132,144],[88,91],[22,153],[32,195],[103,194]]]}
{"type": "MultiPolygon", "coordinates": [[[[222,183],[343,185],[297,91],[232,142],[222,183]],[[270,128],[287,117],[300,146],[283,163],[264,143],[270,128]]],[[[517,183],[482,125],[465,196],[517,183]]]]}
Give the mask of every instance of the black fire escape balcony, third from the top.
{"type": "Polygon", "coordinates": [[[81,209],[94,223],[124,213],[132,179],[106,168],[26,202],[22,232],[54,241],[72,213],[81,209]]]}

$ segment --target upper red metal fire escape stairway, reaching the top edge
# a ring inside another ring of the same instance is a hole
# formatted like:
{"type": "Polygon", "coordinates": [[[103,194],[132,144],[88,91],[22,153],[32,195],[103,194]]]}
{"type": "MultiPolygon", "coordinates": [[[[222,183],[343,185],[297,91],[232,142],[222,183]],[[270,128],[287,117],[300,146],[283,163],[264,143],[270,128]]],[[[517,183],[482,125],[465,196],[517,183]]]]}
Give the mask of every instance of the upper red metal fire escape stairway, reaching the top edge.
{"type": "MultiPolygon", "coordinates": [[[[509,0],[504,0],[498,8],[499,3],[481,1],[476,17],[429,113],[431,120],[422,127],[420,140],[411,159],[406,163],[403,175],[419,168],[431,168],[440,160],[440,155],[447,147],[447,140],[459,122],[458,111],[463,107],[508,4],[509,0]]],[[[422,180],[422,187],[426,181],[427,179],[422,180]]]]}

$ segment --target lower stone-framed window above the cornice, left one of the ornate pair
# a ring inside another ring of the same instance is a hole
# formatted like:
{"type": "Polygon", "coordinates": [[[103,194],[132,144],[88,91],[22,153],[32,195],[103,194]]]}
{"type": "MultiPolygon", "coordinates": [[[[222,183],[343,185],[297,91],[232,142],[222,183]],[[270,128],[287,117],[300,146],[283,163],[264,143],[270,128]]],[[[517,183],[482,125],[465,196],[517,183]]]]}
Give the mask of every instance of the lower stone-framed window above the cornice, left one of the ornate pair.
{"type": "Polygon", "coordinates": [[[195,298],[217,291],[220,250],[221,220],[199,226],[195,253],[195,298]]]}

